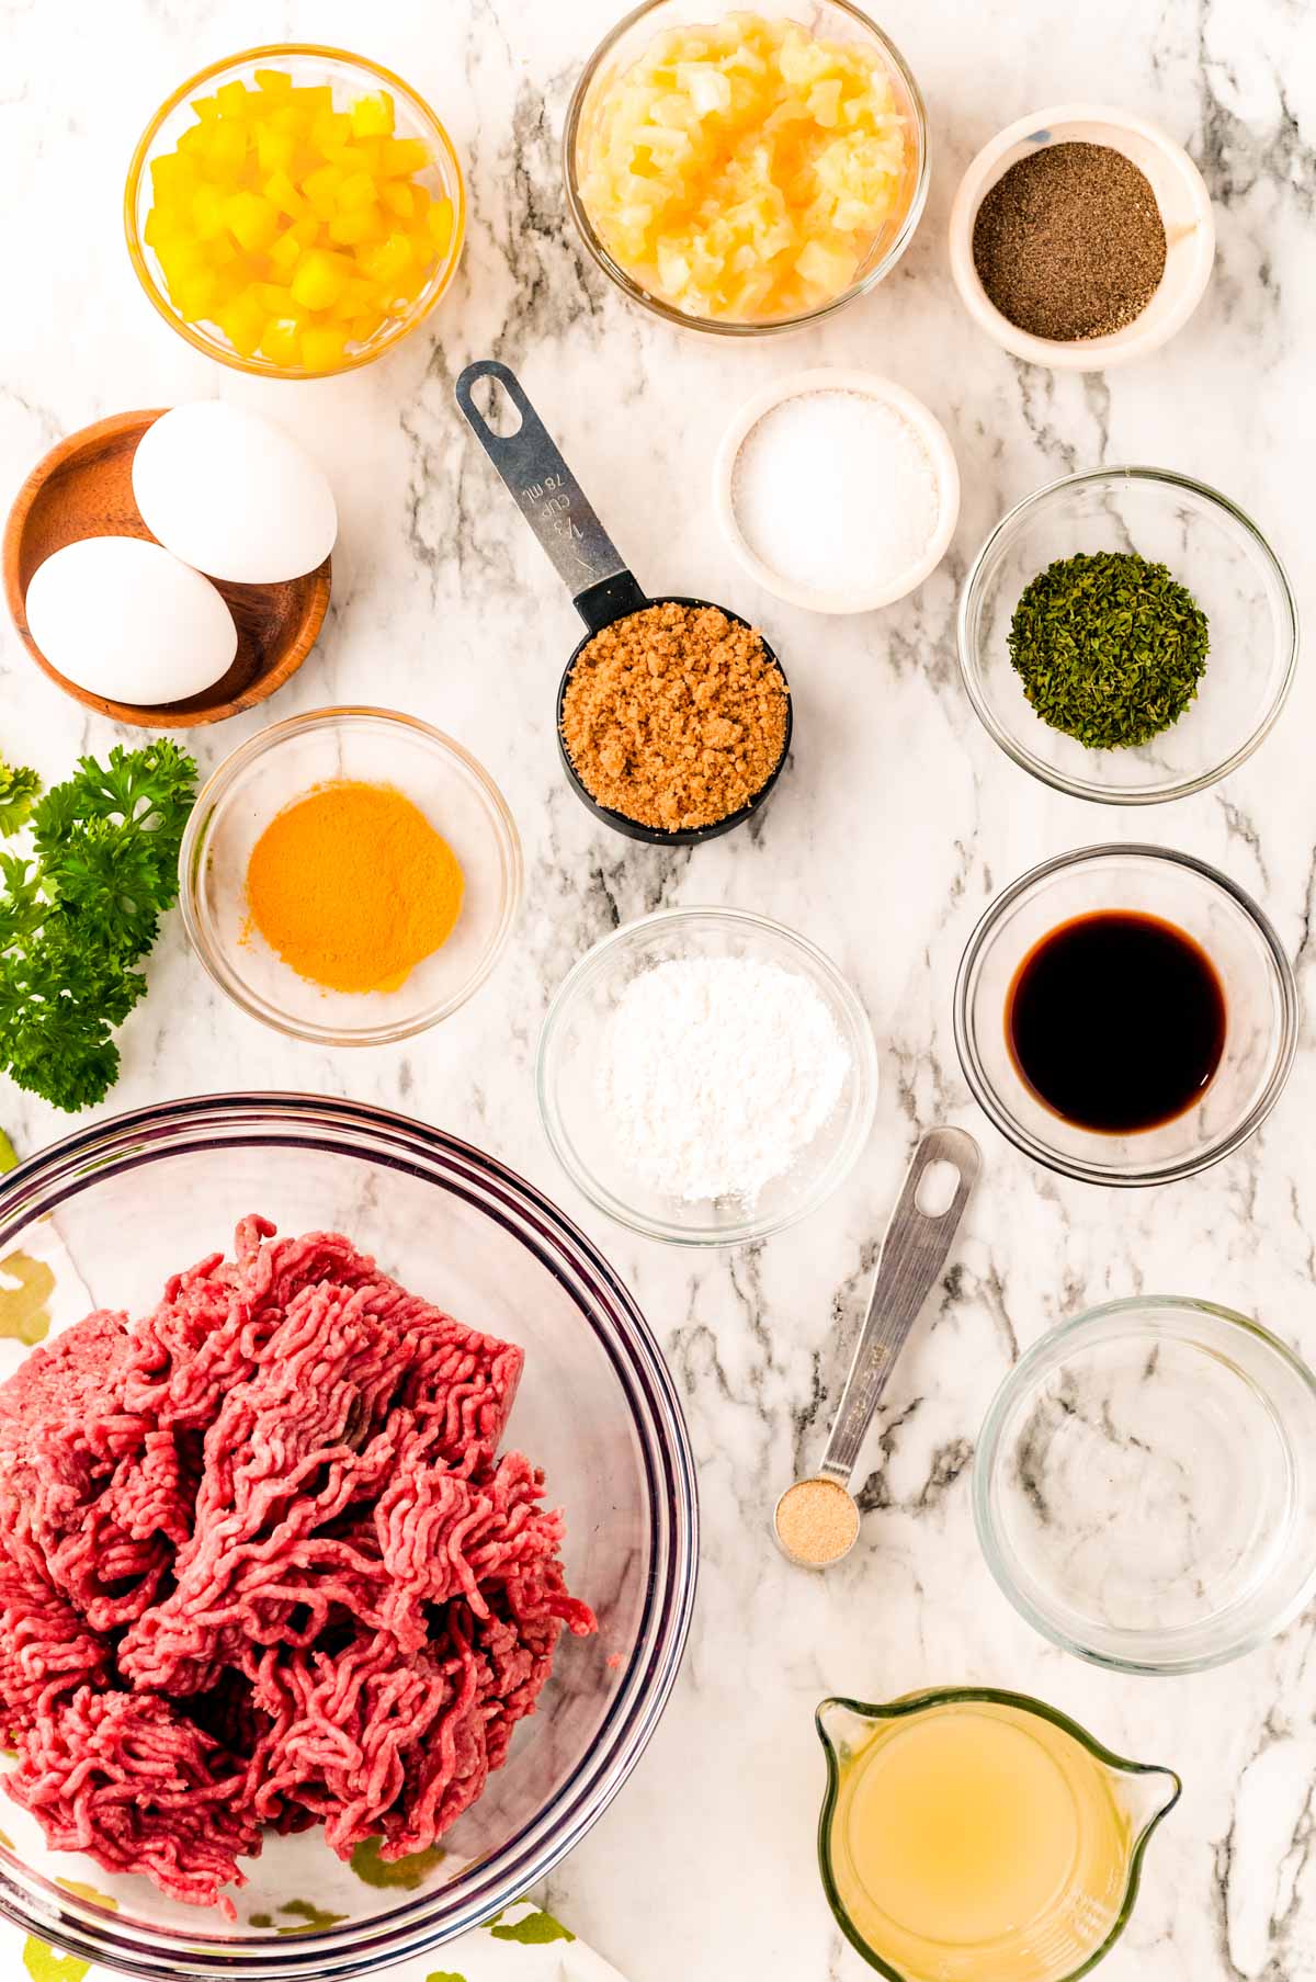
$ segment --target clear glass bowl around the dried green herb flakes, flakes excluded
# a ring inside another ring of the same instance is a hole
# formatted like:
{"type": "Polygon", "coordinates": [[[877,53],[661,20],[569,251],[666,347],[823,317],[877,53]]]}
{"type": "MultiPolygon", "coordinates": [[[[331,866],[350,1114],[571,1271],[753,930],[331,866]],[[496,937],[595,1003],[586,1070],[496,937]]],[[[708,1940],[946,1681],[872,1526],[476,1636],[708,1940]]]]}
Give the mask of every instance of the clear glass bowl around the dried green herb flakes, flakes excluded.
{"type": "Polygon", "coordinates": [[[1163,468],[1064,476],[1005,515],[959,595],[969,702],[1007,757],[1074,799],[1153,805],[1235,771],[1272,727],[1298,662],[1298,608],[1278,557],[1217,490],[1163,468]],[[1211,630],[1207,670],[1173,727],[1094,751],[1033,712],[1009,656],[1023,589],[1076,551],[1136,551],[1189,589],[1211,630]]]}

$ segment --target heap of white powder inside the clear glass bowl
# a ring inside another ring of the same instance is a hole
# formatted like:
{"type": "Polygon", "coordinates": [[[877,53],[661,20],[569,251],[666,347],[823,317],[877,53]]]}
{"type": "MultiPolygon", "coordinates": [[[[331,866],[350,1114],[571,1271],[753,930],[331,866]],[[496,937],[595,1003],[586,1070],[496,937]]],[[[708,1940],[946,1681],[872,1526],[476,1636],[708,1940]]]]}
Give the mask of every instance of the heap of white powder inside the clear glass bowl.
{"type": "Polygon", "coordinates": [[[836,1023],[799,971],[676,957],[614,1005],[599,1104],[644,1183],[684,1203],[751,1207],[822,1128],[848,1070],[836,1023]]]}

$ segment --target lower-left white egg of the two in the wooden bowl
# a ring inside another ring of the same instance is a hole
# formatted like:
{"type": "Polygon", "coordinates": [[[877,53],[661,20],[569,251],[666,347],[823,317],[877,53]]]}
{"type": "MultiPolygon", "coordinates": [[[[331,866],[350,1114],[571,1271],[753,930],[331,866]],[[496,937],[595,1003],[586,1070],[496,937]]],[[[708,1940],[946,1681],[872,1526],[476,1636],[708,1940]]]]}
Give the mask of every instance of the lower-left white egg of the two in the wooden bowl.
{"type": "Polygon", "coordinates": [[[139,537],[65,543],[32,573],[26,612],[52,668],[111,702],[198,696],[238,652],[214,585],[139,537]]]}

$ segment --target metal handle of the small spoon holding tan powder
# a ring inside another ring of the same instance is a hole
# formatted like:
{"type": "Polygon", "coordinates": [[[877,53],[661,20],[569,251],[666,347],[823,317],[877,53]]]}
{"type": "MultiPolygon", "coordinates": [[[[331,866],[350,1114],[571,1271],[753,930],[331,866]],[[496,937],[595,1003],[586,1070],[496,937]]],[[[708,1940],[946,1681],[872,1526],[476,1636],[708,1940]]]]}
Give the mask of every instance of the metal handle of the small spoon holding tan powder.
{"type": "Polygon", "coordinates": [[[981,1161],[977,1144],[959,1128],[930,1130],[914,1152],[900,1201],[886,1227],[868,1314],[854,1348],[846,1387],[840,1393],[832,1435],[819,1467],[842,1486],[850,1483],[858,1449],[896,1358],[945,1265],[981,1161]],[[945,1211],[930,1217],[918,1209],[918,1193],[933,1163],[951,1163],[957,1171],[957,1183],[945,1211]]]}

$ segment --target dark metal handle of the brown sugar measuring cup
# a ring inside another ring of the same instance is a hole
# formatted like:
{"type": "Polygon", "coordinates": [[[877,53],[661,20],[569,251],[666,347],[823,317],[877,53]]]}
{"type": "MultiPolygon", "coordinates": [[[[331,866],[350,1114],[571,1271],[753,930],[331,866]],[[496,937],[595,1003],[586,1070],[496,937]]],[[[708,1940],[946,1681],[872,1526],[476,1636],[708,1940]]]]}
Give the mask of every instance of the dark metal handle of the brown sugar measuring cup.
{"type": "Polygon", "coordinates": [[[646,606],[644,593],[591,509],[511,367],[499,365],[497,359],[476,359],[458,379],[456,396],[476,440],[507,484],[589,630],[599,632],[614,618],[646,606]],[[497,379],[521,414],[515,434],[495,434],[484,418],[472,398],[478,379],[497,379]]]}

